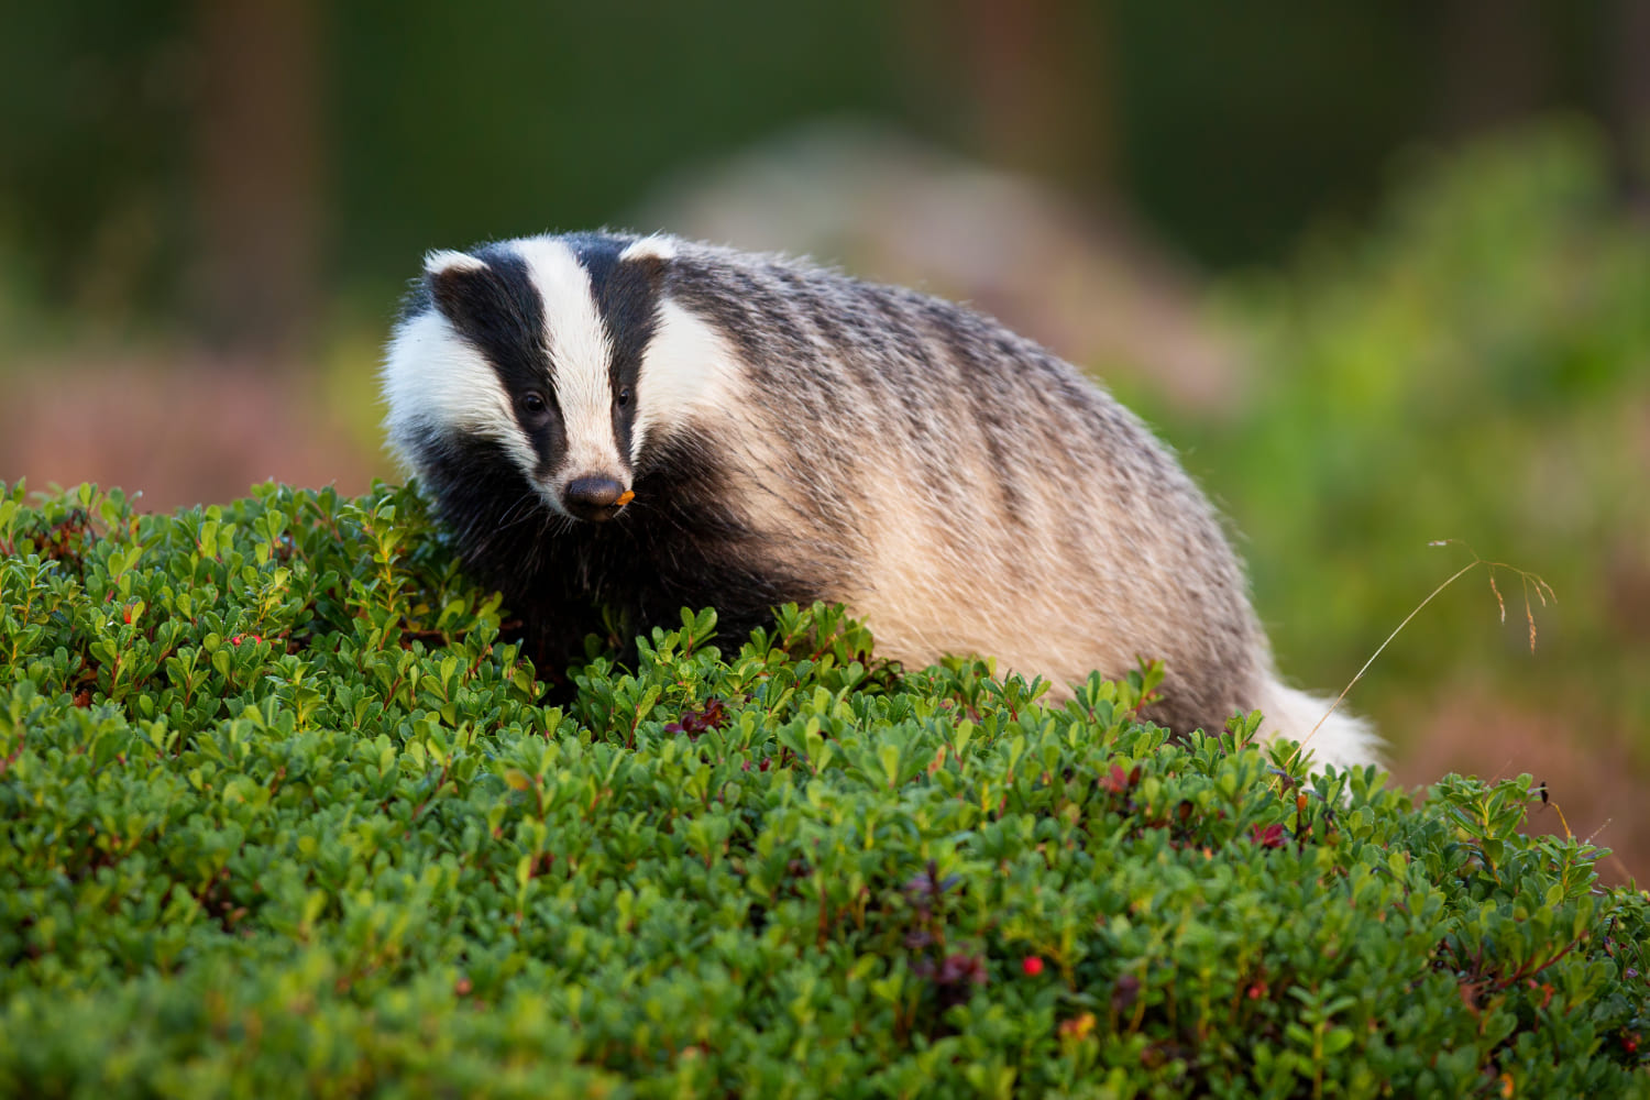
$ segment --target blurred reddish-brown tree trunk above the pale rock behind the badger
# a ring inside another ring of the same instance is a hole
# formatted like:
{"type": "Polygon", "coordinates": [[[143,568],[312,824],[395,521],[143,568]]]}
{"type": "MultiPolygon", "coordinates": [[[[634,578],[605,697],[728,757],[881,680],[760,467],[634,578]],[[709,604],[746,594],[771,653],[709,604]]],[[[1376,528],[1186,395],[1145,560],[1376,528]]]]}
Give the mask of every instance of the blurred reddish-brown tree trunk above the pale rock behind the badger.
{"type": "Polygon", "coordinates": [[[917,0],[917,56],[960,86],[964,127],[992,163],[1102,190],[1114,120],[1101,5],[1079,0],[917,0]]]}

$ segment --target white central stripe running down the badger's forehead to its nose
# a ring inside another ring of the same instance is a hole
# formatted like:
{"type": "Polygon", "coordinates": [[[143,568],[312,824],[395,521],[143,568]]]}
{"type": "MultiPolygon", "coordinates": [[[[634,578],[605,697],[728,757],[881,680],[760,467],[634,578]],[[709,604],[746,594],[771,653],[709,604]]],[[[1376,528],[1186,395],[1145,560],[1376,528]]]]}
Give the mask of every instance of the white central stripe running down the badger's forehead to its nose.
{"type": "Polygon", "coordinates": [[[568,430],[564,472],[619,473],[619,445],[614,442],[612,345],[596,308],[589,272],[573,249],[553,237],[515,242],[528,277],[544,302],[544,345],[568,430]]]}

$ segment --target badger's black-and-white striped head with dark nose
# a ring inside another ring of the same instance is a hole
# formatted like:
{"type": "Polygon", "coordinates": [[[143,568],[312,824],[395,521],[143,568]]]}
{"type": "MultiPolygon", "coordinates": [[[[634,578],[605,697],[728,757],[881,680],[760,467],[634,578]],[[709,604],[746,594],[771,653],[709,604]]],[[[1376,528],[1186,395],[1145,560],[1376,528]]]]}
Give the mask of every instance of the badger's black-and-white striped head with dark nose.
{"type": "Polygon", "coordinates": [[[718,368],[667,297],[672,259],[604,234],[431,252],[384,361],[391,445],[437,498],[503,462],[553,513],[612,519],[718,368]]]}

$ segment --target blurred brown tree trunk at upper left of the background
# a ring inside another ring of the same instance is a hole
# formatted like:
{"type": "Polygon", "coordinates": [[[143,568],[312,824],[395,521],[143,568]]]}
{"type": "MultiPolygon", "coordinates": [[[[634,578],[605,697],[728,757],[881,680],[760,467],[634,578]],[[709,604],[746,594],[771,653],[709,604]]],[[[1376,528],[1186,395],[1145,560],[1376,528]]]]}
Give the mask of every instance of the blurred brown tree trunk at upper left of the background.
{"type": "Polygon", "coordinates": [[[315,0],[198,0],[191,299],[206,338],[274,363],[314,333],[320,259],[315,0]]]}

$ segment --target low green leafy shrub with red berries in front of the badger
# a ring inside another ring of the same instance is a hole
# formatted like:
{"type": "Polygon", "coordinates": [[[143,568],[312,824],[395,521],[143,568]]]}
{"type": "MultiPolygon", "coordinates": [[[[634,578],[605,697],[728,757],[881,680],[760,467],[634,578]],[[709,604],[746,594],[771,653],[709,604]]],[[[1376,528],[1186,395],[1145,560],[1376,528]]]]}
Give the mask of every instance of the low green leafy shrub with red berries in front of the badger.
{"type": "Polygon", "coordinates": [[[833,609],[568,707],[419,500],[0,487],[0,1093],[1647,1092],[1650,904],[833,609]]]}

